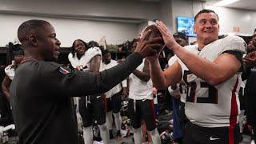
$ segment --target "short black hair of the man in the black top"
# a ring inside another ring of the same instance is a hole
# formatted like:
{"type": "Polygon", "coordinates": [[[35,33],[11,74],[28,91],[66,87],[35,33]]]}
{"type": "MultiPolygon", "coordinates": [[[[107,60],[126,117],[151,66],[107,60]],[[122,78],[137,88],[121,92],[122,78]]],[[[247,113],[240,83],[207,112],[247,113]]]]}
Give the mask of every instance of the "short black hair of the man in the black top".
{"type": "Polygon", "coordinates": [[[50,24],[49,22],[39,19],[30,19],[26,22],[23,22],[18,27],[18,40],[23,44],[24,41],[28,40],[27,37],[30,34],[33,34],[36,32],[36,30],[44,27],[46,23],[50,24]]]}

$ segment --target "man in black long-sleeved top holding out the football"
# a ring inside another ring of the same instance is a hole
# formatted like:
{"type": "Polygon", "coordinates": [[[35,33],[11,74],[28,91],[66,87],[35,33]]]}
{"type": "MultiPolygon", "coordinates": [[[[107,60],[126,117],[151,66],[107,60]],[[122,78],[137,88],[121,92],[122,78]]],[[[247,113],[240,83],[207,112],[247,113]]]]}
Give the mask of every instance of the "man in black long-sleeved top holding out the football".
{"type": "Polygon", "coordinates": [[[20,143],[78,143],[78,130],[70,96],[101,94],[122,82],[142,58],[161,49],[161,38],[146,40],[122,64],[99,74],[70,71],[58,63],[61,43],[54,27],[43,20],[29,20],[18,28],[25,58],[10,86],[10,102],[20,143]]]}

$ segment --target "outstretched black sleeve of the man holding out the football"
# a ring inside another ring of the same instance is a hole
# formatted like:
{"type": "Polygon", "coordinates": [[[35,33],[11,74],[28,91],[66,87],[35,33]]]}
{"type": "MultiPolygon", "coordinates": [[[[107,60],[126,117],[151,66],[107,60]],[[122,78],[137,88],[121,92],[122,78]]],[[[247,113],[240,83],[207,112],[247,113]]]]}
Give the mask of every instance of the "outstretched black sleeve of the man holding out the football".
{"type": "Polygon", "coordinates": [[[142,63],[141,54],[130,54],[125,62],[98,74],[78,70],[62,70],[59,65],[42,66],[39,72],[42,87],[50,95],[62,94],[80,97],[88,94],[102,94],[118,85],[142,63]],[[49,81],[46,81],[49,79],[49,81]]]}

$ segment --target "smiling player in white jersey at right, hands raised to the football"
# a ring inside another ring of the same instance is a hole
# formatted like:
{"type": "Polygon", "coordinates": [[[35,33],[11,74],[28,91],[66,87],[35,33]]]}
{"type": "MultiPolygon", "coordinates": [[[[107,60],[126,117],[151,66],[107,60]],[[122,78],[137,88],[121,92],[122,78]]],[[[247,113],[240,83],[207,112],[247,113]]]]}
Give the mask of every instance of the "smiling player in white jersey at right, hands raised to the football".
{"type": "Polygon", "coordinates": [[[186,83],[185,113],[190,122],[185,126],[184,143],[238,143],[238,89],[246,43],[237,36],[218,39],[219,19],[213,10],[201,10],[194,19],[198,45],[185,49],[157,22],[177,61],[162,71],[158,55],[147,58],[152,81],[158,89],[181,80],[186,83]]]}

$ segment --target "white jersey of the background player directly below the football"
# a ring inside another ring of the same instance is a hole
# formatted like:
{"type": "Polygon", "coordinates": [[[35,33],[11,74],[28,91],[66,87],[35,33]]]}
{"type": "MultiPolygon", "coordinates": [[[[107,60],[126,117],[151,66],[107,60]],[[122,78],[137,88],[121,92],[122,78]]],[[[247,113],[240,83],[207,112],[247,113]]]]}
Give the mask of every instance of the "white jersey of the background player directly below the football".
{"type": "MultiPolygon", "coordinates": [[[[143,60],[142,64],[137,67],[137,70],[143,70],[144,62],[145,59],[143,60]]],[[[153,99],[153,83],[151,78],[148,82],[145,82],[139,79],[134,74],[130,74],[129,84],[129,98],[135,100],[153,99]]]]}

